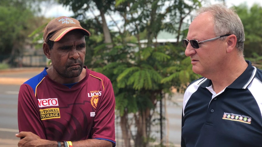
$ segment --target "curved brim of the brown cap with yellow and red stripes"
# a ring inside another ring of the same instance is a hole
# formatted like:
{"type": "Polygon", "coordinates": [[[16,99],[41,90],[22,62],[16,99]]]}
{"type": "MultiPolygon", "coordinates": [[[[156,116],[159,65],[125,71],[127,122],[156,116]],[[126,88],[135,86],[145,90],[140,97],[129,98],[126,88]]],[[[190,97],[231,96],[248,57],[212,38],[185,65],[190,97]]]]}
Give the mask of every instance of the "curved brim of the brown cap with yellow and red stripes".
{"type": "Polygon", "coordinates": [[[53,42],[57,42],[59,40],[61,40],[64,35],[66,35],[68,32],[75,30],[75,29],[80,29],[82,30],[82,32],[84,33],[84,35],[89,36],[90,32],[88,32],[86,29],[84,28],[79,28],[79,27],[68,27],[68,28],[63,28],[61,30],[59,30],[58,32],[56,32],[52,37],[50,37],[49,40],[53,41],[53,42]]]}

